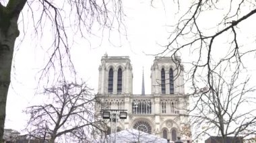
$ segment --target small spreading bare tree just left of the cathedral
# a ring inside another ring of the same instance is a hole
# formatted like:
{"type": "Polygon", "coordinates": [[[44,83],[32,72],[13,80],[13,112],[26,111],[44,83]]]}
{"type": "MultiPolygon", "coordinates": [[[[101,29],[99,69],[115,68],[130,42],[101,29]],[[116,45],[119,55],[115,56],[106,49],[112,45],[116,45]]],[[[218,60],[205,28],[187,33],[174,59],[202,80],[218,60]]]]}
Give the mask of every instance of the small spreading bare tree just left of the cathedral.
{"type": "Polygon", "coordinates": [[[45,89],[42,97],[46,103],[26,109],[30,114],[28,134],[51,143],[92,142],[104,137],[106,126],[94,119],[96,97],[90,91],[86,83],[66,82],[45,89]]]}

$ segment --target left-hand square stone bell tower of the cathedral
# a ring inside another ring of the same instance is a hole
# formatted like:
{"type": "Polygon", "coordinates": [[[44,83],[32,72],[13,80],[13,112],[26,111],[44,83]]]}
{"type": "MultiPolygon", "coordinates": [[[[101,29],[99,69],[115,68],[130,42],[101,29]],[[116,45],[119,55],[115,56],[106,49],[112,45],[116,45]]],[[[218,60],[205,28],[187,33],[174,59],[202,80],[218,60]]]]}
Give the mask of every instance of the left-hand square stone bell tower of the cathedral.
{"type": "Polygon", "coordinates": [[[133,93],[133,73],[129,56],[102,56],[98,95],[133,93]]]}

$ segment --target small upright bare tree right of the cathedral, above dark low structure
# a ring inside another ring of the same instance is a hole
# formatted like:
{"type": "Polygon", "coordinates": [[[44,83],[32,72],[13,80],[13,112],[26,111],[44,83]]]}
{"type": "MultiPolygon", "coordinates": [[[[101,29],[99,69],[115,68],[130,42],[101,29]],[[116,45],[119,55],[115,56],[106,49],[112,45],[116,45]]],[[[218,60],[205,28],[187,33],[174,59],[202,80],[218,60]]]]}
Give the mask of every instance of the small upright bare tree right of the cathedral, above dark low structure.
{"type": "Polygon", "coordinates": [[[237,71],[229,76],[223,70],[220,73],[212,73],[212,88],[205,87],[193,94],[189,115],[191,125],[196,129],[196,137],[221,136],[222,142],[226,142],[228,136],[234,137],[234,140],[237,139],[235,137],[254,136],[255,87],[250,87],[249,77],[243,82],[238,77],[237,71]]]}

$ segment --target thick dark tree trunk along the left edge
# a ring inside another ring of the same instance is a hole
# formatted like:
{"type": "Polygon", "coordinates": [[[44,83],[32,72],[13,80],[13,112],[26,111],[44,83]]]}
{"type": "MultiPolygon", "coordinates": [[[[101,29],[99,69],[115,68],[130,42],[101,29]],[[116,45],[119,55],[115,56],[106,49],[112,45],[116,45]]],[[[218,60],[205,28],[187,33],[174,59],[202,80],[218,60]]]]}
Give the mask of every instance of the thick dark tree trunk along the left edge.
{"type": "Polygon", "coordinates": [[[11,81],[11,61],[15,39],[19,36],[18,16],[0,15],[0,142],[5,125],[5,106],[9,83],[11,81]]]}

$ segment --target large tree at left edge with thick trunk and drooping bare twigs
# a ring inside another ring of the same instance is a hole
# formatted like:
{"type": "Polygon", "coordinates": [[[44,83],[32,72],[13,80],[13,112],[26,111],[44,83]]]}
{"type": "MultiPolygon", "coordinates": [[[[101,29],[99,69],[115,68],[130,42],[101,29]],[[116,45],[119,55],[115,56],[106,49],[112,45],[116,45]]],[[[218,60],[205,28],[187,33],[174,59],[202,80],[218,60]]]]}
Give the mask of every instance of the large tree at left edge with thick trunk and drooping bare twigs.
{"type": "MultiPolygon", "coordinates": [[[[69,66],[73,70],[73,64],[69,53],[70,40],[73,34],[80,34],[83,38],[91,34],[93,26],[102,30],[106,28],[117,30],[123,28],[123,9],[120,0],[94,1],[94,0],[3,0],[0,2],[0,140],[3,137],[5,122],[5,105],[11,77],[11,64],[16,38],[20,34],[18,26],[26,24],[35,34],[44,36],[52,32],[52,38],[48,38],[46,53],[49,54],[46,64],[42,69],[42,77],[55,75],[63,78],[63,68],[69,66]],[[26,8],[26,9],[24,9],[26,8]],[[22,11],[28,13],[28,21],[22,11]],[[69,17],[69,19],[67,19],[69,17]],[[20,19],[20,21],[19,21],[20,19]],[[32,23],[32,26],[29,24],[32,23]],[[49,28],[50,27],[50,28],[49,28]],[[67,31],[73,32],[67,34],[67,31]],[[66,57],[66,58],[64,58],[66,57]],[[48,61],[48,62],[47,62],[48,61]],[[65,65],[65,66],[64,66],[65,65]],[[57,66],[57,67],[56,67],[57,66]],[[51,72],[55,72],[52,74],[51,72]],[[51,73],[51,74],[49,74],[51,73]]],[[[100,31],[98,31],[100,32],[100,31]]],[[[100,32],[100,33],[101,33],[100,32]]],[[[41,78],[40,78],[41,79],[41,78]]]]}

